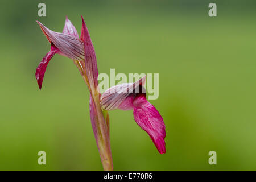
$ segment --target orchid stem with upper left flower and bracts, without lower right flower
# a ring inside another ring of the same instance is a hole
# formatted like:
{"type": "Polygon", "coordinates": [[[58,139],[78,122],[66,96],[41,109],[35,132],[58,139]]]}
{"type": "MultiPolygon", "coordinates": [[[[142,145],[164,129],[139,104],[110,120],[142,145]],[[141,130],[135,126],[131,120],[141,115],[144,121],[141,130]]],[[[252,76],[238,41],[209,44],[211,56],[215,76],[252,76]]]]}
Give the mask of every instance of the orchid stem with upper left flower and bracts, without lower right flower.
{"type": "Polygon", "coordinates": [[[104,170],[113,170],[109,140],[109,115],[107,112],[103,113],[101,110],[100,93],[97,90],[97,60],[84,19],[82,18],[80,38],[76,28],[68,18],[65,20],[62,33],[49,30],[40,22],[38,22],[38,24],[49,43],[51,43],[51,50],[43,57],[43,60],[36,69],[35,76],[38,81],[39,89],[41,90],[42,88],[44,73],[53,55],[58,53],[73,60],[90,91],[90,119],[98,151],[100,152],[102,166],[104,170]]]}

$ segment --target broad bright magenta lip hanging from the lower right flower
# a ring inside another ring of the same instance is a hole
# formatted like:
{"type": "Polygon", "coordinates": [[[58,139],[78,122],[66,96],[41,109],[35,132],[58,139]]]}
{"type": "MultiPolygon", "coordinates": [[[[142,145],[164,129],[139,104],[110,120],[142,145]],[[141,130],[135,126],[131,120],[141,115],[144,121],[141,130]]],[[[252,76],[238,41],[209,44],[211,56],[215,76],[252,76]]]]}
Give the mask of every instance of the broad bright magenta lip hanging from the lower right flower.
{"type": "Polygon", "coordinates": [[[135,122],[150,135],[159,153],[166,153],[166,126],[158,110],[146,100],[146,94],[139,94],[133,104],[135,122]]]}

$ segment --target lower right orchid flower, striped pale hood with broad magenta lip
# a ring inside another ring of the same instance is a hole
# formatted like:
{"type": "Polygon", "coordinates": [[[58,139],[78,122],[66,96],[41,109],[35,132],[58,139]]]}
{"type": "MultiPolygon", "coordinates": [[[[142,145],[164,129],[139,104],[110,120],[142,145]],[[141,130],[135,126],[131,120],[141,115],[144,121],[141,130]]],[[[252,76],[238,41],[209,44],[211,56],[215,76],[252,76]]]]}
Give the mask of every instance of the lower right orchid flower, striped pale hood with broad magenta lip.
{"type": "Polygon", "coordinates": [[[133,110],[135,122],[147,132],[160,154],[166,153],[165,125],[158,110],[146,99],[146,76],[133,84],[121,84],[109,88],[101,95],[104,110],[133,110]]]}

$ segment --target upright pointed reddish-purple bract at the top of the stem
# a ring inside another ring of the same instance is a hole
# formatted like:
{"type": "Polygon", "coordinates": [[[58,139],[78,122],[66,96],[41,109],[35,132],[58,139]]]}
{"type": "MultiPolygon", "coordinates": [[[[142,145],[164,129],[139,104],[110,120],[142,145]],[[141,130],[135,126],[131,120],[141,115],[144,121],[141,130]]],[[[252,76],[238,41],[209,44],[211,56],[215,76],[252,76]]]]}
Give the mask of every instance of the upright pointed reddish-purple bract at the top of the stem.
{"type": "Polygon", "coordinates": [[[98,86],[98,68],[93,43],[90,39],[84,18],[82,18],[81,40],[84,42],[86,75],[88,77],[90,88],[92,88],[93,92],[93,90],[97,90],[98,86]]]}

